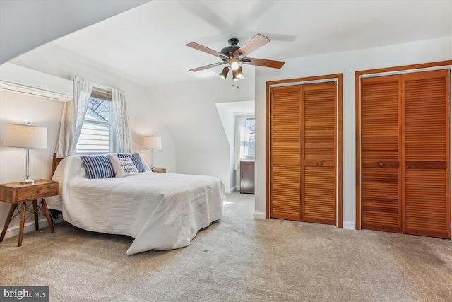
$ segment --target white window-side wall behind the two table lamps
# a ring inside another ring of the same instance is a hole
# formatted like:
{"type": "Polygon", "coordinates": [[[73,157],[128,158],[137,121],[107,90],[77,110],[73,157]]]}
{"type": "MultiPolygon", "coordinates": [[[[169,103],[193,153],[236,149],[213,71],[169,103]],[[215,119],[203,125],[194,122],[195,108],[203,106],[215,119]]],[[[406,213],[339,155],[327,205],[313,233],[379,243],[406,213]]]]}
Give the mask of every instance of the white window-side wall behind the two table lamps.
{"type": "MultiPolygon", "coordinates": [[[[38,47],[13,59],[11,63],[66,79],[71,74],[82,76],[95,83],[124,90],[133,151],[140,152],[150,163],[150,151],[141,149],[143,137],[150,134],[159,135],[162,137],[163,149],[155,151],[154,163],[158,167],[167,168],[168,173],[176,172],[176,146],[162,123],[164,117],[155,109],[153,100],[143,87],[112,76],[105,67],[55,45],[38,47]]],[[[0,93],[0,141],[3,141],[5,127],[9,122],[31,122],[48,129],[48,148],[31,151],[30,173],[33,178],[50,178],[52,154],[57,144],[62,109],[63,103],[13,93],[0,93]]],[[[22,149],[0,146],[0,183],[15,182],[23,180],[24,177],[25,152],[22,149]]],[[[6,220],[10,206],[11,204],[0,202],[0,226],[3,226],[6,220]]],[[[16,228],[18,225],[16,220],[11,222],[10,228],[16,228]]]]}

